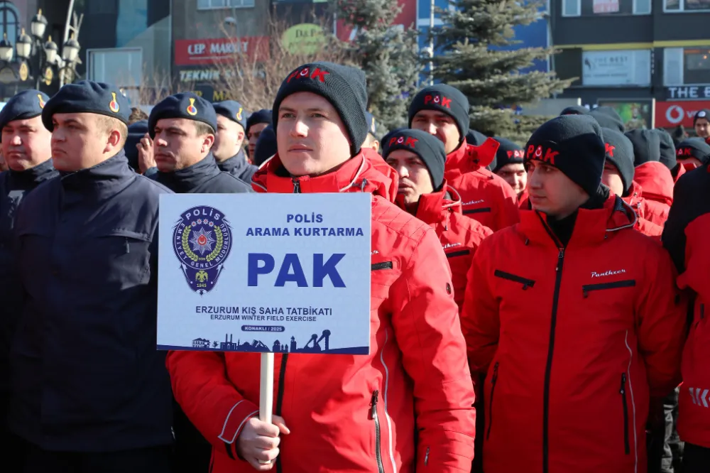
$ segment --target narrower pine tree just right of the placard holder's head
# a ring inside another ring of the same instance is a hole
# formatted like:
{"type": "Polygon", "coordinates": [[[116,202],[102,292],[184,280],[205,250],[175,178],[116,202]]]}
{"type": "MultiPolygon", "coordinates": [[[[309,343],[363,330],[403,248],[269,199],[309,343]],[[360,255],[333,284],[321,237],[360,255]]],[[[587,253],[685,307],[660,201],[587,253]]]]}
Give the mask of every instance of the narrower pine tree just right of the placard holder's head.
{"type": "Polygon", "coordinates": [[[397,0],[336,0],[338,18],[356,36],[344,45],[367,77],[368,111],[383,129],[407,125],[410,96],[421,70],[415,29],[393,26],[401,11],[397,0]]]}

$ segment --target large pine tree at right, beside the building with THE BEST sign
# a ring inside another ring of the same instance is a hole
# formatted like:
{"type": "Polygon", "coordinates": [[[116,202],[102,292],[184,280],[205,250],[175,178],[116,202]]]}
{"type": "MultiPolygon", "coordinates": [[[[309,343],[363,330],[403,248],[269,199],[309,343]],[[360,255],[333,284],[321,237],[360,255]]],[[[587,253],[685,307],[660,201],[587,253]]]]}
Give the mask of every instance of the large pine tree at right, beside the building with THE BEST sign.
{"type": "Polygon", "coordinates": [[[519,116],[510,107],[550,97],[569,87],[554,72],[520,72],[533,60],[546,60],[550,48],[491,49],[520,43],[513,26],[541,18],[540,3],[531,0],[450,0],[440,11],[443,25],[433,32],[436,80],[457,87],[469,97],[471,129],[488,136],[525,143],[537,126],[550,117],[519,116]]]}

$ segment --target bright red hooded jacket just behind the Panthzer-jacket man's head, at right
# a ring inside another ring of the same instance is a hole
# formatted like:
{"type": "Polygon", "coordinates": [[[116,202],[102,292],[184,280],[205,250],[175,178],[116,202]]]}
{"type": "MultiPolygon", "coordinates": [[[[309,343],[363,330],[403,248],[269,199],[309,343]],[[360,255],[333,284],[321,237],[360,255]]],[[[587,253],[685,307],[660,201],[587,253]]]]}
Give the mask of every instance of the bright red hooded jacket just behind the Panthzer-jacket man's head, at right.
{"type": "Polygon", "coordinates": [[[673,203],[673,176],[664,164],[648,161],[635,168],[635,180],[643,189],[641,197],[647,201],[646,219],[663,227],[668,218],[668,210],[673,203]]]}

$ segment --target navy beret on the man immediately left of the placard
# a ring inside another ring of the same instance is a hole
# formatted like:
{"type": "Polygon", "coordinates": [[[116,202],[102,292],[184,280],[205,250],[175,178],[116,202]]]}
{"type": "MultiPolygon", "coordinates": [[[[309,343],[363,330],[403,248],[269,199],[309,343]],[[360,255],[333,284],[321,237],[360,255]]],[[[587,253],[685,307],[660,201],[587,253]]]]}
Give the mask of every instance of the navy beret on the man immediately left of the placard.
{"type": "Polygon", "coordinates": [[[54,114],[80,113],[106,115],[128,124],[131,105],[118,87],[82,80],[76,84],[65,85],[47,101],[42,111],[42,123],[46,129],[52,131],[54,114]]]}

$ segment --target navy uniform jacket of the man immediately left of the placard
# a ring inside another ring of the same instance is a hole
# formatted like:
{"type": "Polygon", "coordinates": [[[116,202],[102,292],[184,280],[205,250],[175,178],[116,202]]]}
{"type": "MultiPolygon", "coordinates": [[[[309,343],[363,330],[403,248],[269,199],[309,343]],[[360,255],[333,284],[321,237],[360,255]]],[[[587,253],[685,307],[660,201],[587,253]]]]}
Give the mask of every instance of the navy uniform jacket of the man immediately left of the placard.
{"type": "Polygon", "coordinates": [[[10,428],[45,450],[169,445],[155,349],[158,199],[123,151],[38,186],[18,209],[25,302],[11,348],[10,428]]]}

